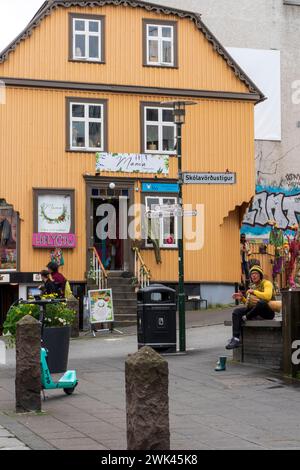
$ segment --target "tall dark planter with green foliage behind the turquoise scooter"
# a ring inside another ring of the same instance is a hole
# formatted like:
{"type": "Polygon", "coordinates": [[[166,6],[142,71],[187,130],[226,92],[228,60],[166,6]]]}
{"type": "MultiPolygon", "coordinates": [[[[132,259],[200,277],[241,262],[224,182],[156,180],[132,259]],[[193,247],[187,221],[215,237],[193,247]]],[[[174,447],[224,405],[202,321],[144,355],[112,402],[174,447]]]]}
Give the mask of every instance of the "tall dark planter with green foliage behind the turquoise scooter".
{"type": "MultiPolygon", "coordinates": [[[[54,297],[44,296],[47,298],[54,297]]],[[[3,334],[7,336],[9,346],[16,339],[17,323],[26,315],[32,315],[36,320],[40,317],[40,307],[35,304],[19,304],[11,307],[3,325],[3,334]]],[[[66,303],[49,304],[44,318],[43,342],[48,349],[48,364],[51,373],[65,372],[68,365],[71,325],[76,312],[67,307],[66,303]]]]}

